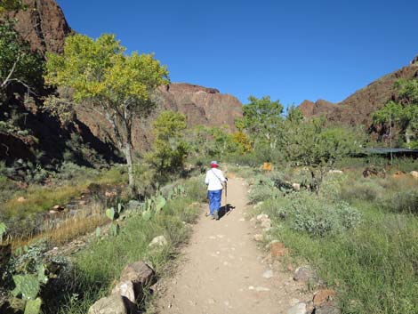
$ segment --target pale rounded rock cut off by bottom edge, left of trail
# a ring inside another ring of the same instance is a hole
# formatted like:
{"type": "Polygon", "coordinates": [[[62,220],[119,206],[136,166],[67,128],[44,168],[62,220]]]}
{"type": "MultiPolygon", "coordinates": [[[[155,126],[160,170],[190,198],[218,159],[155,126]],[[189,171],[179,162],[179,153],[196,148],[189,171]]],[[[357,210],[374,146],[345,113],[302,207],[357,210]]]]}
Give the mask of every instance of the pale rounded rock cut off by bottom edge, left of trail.
{"type": "Polygon", "coordinates": [[[134,312],[133,304],[127,298],[112,294],[95,302],[88,314],[131,314],[134,312]]]}

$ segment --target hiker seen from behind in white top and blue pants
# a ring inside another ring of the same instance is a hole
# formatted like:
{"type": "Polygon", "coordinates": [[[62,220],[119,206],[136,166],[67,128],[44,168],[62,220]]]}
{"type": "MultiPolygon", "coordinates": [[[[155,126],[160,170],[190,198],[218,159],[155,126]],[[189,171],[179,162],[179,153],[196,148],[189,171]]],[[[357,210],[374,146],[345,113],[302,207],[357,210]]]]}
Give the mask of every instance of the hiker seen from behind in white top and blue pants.
{"type": "Polygon", "coordinates": [[[205,184],[207,185],[207,198],[209,198],[209,217],[219,220],[221,208],[222,184],[227,181],[216,161],[211,162],[211,169],[207,171],[205,184]]]}

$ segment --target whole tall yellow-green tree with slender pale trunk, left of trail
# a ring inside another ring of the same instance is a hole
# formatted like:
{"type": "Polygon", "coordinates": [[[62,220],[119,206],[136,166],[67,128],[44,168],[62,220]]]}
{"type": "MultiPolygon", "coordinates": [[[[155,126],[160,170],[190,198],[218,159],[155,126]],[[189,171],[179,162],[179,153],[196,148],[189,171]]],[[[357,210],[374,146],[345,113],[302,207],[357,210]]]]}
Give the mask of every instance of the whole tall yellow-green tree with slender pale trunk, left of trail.
{"type": "Polygon", "coordinates": [[[155,108],[152,95],[168,83],[168,71],[153,54],[125,53],[114,35],[93,40],[69,36],[62,55],[47,53],[45,80],[70,88],[73,101],[47,101],[56,112],[60,106],[88,106],[112,127],[116,144],[125,152],[129,185],[133,189],[133,117],[146,117],[155,108]]]}

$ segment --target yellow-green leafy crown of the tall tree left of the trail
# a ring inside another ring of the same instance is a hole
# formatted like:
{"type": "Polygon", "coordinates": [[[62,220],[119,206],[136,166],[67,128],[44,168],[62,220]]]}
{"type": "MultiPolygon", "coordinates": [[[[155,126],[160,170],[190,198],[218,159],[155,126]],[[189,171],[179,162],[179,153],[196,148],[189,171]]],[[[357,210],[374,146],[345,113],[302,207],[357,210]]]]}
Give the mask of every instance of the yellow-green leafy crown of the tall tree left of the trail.
{"type": "Polygon", "coordinates": [[[64,55],[49,53],[46,68],[48,84],[73,88],[76,101],[100,99],[109,107],[127,100],[131,109],[145,106],[149,93],[168,82],[167,69],[153,54],[125,55],[125,47],[110,34],[96,40],[69,36],[64,55]]]}

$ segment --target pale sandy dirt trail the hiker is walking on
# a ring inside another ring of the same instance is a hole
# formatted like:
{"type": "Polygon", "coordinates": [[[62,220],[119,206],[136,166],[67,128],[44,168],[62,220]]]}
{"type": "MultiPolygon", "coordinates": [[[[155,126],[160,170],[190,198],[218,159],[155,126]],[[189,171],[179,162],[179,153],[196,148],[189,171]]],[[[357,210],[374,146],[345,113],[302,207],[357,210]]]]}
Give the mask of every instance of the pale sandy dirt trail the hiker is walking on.
{"type": "Polygon", "coordinates": [[[228,203],[235,208],[220,221],[202,213],[175,278],[158,293],[158,313],[278,314],[301,300],[292,274],[279,271],[253,241],[254,223],[245,221],[247,189],[244,180],[229,180],[228,203]]]}

